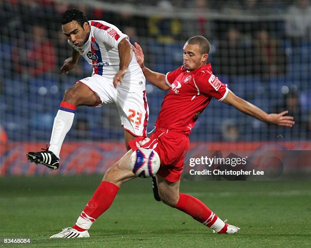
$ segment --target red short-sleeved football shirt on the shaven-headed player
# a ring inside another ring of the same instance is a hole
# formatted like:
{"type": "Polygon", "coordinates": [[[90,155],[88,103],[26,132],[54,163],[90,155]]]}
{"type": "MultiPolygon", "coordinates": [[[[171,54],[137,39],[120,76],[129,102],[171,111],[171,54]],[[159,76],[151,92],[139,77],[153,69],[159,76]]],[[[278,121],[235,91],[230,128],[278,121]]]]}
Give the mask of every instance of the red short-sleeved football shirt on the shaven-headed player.
{"type": "Polygon", "coordinates": [[[187,71],[183,66],[166,74],[171,87],[164,97],[155,126],[190,134],[198,115],[209,104],[211,98],[224,100],[228,88],[212,74],[210,64],[187,71]]]}

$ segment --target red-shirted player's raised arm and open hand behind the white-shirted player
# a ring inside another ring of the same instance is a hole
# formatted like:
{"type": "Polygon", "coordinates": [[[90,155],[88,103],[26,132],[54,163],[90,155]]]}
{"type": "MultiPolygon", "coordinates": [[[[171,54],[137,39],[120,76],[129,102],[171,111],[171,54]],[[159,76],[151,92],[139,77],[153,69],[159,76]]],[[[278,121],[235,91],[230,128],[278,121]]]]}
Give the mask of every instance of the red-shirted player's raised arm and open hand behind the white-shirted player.
{"type": "Polygon", "coordinates": [[[136,60],[142,69],[144,76],[146,79],[151,82],[152,85],[158,87],[161,90],[168,90],[170,87],[165,82],[165,75],[159,72],[151,71],[149,68],[145,67],[145,57],[141,46],[135,42],[133,46],[133,50],[135,53],[136,60]]]}

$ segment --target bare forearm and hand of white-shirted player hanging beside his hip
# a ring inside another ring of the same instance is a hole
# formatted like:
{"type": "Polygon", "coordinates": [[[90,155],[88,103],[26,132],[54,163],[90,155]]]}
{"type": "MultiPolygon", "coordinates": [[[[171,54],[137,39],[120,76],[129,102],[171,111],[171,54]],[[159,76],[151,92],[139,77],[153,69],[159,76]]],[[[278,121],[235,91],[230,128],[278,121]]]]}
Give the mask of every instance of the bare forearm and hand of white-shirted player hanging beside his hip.
{"type": "Polygon", "coordinates": [[[119,51],[119,71],[113,78],[113,86],[117,88],[118,82],[122,84],[123,76],[127,73],[128,67],[132,61],[132,45],[127,38],[123,38],[118,44],[119,51]]]}

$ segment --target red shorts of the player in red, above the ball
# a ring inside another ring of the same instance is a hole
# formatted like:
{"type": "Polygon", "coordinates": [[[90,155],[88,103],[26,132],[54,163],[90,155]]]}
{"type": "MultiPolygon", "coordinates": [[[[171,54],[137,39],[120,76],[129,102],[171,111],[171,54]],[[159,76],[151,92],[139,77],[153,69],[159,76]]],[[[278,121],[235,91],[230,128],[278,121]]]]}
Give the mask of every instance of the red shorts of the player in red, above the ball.
{"type": "Polygon", "coordinates": [[[189,149],[188,135],[168,129],[157,128],[150,137],[137,137],[129,142],[135,151],[139,147],[153,149],[161,160],[158,175],[169,182],[177,182],[181,178],[183,160],[189,149]]]}

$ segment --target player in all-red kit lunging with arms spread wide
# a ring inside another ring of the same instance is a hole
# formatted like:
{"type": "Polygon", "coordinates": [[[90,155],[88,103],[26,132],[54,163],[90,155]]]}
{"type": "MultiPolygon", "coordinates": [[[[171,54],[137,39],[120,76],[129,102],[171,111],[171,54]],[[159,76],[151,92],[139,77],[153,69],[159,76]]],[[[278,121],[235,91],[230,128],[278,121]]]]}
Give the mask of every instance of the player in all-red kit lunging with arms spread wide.
{"type": "Polygon", "coordinates": [[[185,43],[183,66],[166,75],[144,66],[144,54],[137,43],[133,49],[146,79],[162,90],[169,90],[155,123],[156,130],[146,139],[138,137],[129,142],[132,150],[106,172],[77,223],[51,238],[89,237],[87,230],[110,207],[119,186],[136,177],[129,167],[129,161],[133,151],[140,147],[153,149],[160,156],[161,167],[157,173],[157,181],[163,203],[191,215],[216,233],[238,232],[238,227],[224,223],[203,202],[179,192],[183,159],[189,148],[191,129],[212,97],[267,123],[292,127],[295,124],[293,117],[285,116],[287,111],[267,114],[233,94],[213,75],[210,64],[206,64],[210,44],[203,36],[194,36],[185,43]]]}

